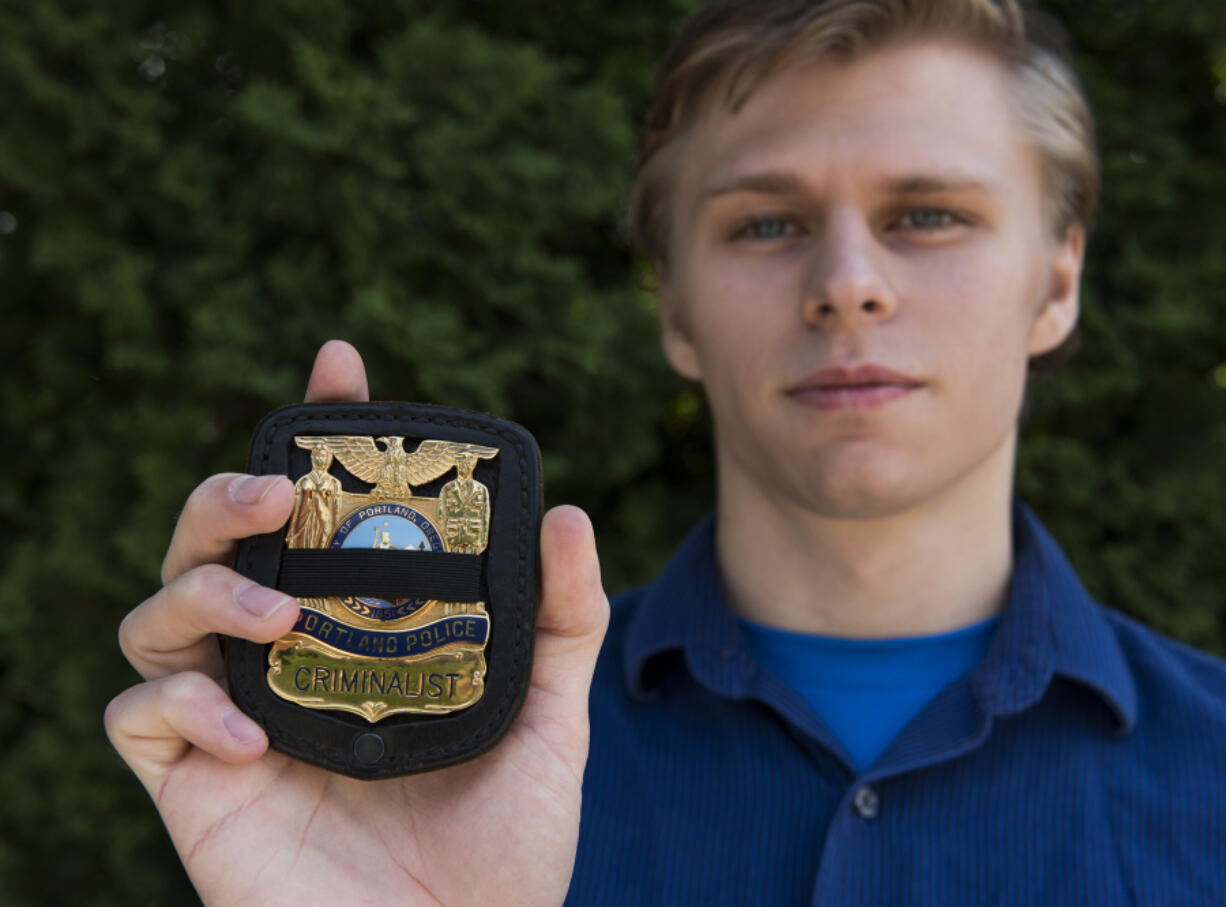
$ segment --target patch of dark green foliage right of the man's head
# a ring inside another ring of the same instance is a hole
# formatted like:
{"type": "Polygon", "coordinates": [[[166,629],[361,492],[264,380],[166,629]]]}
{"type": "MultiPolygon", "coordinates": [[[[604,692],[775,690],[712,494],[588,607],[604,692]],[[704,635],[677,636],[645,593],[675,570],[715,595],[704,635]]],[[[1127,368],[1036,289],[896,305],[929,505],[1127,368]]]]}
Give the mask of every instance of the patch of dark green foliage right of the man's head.
{"type": "Polygon", "coordinates": [[[1083,347],[1035,384],[1019,491],[1101,601],[1226,653],[1226,7],[1043,5],[1080,50],[1105,191],[1083,347]]]}

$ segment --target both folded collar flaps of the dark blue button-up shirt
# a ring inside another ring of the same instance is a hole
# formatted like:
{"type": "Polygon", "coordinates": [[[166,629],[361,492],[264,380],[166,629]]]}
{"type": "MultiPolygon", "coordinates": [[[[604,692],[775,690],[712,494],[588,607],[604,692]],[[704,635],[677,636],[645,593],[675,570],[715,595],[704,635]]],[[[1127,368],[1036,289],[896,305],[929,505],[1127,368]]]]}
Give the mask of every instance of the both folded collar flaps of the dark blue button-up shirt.
{"type": "MultiPolygon", "coordinates": [[[[1036,704],[1053,677],[1094,693],[1121,733],[1137,721],[1137,688],[1100,607],[1059,545],[1022,504],[1013,512],[1014,570],[988,655],[970,675],[981,707],[1013,715],[1036,704]]],[[[728,608],[715,556],[715,520],[685,537],[639,602],[626,635],[624,667],[635,697],[653,691],[651,667],[683,653],[690,673],[729,699],[743,699],[756,673],[728,608]]]]}

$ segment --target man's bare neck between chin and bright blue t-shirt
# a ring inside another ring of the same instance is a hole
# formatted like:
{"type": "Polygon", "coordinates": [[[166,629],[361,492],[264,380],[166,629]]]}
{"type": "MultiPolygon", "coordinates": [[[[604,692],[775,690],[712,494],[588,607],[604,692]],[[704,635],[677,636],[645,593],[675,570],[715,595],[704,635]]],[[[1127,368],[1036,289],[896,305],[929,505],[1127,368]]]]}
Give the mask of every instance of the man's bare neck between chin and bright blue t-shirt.
{"type": "Polygon", "coordinates": [[[830,518],[721,473],[716,549],[733,610],[798,632],[918,636],[998,614],[1013,567],[1013,445],[916,506],[830,518]]]}

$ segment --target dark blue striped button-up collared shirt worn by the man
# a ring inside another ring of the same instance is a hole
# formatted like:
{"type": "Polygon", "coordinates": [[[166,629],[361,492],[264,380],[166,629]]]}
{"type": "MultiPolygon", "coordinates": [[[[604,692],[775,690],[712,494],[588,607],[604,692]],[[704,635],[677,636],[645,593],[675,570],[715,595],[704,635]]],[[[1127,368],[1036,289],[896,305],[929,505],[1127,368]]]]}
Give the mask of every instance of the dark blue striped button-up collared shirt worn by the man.
{"type": "Polygon", "coordinates": [[[1022,506],[996,639],[867,770],[750,656],[710,520],[614,602],[570,905],[1226,905],[1226,664],[1022,506]]]}

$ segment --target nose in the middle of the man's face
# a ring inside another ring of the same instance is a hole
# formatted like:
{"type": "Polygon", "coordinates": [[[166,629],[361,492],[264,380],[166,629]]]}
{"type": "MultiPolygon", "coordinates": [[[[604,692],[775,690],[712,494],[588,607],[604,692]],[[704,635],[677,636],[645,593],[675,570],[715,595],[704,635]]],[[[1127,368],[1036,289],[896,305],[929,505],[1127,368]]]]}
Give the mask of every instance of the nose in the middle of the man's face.
{"type": "Polygon", "coordinates": [[[885,250],[862,212],[831,211],[813,255],[803,299],[808,324],[852,327],[894,317],[897,297],[885,272],[885,250]]]}

